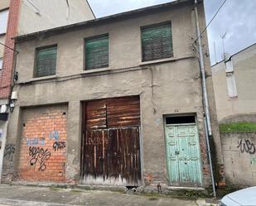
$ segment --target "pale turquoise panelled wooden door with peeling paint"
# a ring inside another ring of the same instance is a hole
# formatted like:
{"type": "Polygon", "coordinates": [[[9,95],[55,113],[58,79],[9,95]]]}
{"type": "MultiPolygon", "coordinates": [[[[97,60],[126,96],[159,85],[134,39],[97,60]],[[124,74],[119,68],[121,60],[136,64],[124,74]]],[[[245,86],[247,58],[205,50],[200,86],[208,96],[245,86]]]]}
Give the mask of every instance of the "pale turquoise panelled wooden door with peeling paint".
{"type": "Polygon", "coordinates": [[[200,144],[196,123],[166,125],[167,170],[171,185],[200,186],[200,144]]]}

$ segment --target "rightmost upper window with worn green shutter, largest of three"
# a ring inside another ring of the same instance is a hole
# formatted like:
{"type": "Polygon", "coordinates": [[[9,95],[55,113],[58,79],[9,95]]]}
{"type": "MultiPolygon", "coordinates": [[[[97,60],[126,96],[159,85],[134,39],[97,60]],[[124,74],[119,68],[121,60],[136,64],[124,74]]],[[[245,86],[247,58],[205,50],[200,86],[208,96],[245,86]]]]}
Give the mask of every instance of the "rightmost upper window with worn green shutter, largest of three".
{"type": "Polygon", "coordinates": [[[142,61],[169,58],[172,52],[171,22],[143,26],[142,61]]]}

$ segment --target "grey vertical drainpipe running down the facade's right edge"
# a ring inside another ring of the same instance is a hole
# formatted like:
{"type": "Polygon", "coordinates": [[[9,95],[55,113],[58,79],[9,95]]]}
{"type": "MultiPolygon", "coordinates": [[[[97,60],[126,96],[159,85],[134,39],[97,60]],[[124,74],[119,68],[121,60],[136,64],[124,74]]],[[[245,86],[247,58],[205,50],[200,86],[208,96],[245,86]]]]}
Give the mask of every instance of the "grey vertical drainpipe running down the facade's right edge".
{"type": "Polygon", "coordinates": [[[204,55],[202,50],[202,43],[201,43],[201,35],[200,35],[200,26],[199,26],[199,18],[198,18],[198,10],[197,10],[197,0],[195,0],[195,14],[196,14],[196,33],[197,33],[197,41],[199,47],[199,63],[200,63],[200,74],[201,74],[201,81],[202,81],[202,89],[203,89],[203,102],[204,102],[204,112],[205,112],[205,133],[206,133],[206,146],[207,146],[207,153],[209,158],[210,164],[210,175],[212,180],[212,189],[214,193],[214,197],[216,197],[215,191],[215,179],[212,170],[212,163],[211,163],[211,154],[210,154],[210,141],[209,138],[212,137],[211,131],[211,124],[210,124],[210,111],[209,111],[209,102],[208,102],[208,93],[206,89],[206,79],[205,79],[205,65],[204,65],[204,55]]]}

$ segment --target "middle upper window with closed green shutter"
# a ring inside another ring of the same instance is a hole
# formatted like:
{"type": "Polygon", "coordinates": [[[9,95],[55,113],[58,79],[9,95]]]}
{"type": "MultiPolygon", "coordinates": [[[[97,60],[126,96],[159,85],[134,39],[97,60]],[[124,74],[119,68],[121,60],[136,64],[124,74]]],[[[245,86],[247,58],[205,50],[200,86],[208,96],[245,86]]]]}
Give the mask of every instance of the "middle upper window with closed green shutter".
{"type": "Polygon", "coordinates": [[[85,39],[85,69],[109,66],[109,35],[85,39]]]}

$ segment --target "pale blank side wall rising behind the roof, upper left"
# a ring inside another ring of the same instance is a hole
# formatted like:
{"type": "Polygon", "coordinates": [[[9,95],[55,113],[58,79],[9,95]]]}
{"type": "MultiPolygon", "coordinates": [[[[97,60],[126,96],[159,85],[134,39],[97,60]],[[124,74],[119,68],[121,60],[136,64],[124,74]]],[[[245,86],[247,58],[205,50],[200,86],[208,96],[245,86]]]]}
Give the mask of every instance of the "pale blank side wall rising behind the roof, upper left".
{"type": "Polygon", "coordinates": [[[94,14],[86,0],[22,0],[18,33],[23,35],[90,19],[94,19],[94,14]]]}

